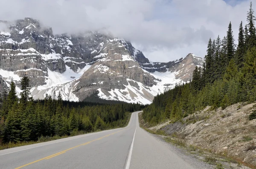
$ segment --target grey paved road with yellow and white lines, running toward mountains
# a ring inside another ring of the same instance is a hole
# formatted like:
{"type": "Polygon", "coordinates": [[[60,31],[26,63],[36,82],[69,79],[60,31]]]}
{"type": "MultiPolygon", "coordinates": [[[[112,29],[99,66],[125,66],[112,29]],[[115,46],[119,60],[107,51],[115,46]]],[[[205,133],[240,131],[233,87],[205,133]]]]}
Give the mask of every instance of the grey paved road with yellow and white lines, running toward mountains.
{"type": "MultiPolygon", "coordinates": [[[[194,169],[139,127],[127,127],[0,150],[1,169],[194,169]]],[[[196,168],[195,168],[196,169],[196,168]]]]}

